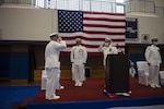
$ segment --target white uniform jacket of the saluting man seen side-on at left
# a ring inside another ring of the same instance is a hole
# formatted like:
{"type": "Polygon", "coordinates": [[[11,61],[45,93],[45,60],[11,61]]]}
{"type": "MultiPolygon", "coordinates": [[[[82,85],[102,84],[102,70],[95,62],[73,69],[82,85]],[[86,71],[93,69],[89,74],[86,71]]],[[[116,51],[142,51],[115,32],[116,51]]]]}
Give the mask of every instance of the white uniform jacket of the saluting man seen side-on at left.
{"type": "Polygon", "coordinates": [[[45,68],[60,68],[59,53],[67,47],[66,41],[50,40],[45,49],[45,68]]]}

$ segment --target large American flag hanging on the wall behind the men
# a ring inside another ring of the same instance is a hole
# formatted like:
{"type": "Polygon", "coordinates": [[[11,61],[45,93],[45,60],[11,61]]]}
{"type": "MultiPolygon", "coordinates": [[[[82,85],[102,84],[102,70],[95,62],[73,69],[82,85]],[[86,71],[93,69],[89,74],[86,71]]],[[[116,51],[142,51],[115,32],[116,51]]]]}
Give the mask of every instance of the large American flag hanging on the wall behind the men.
{"type": "Polygon", "coordinates": [[[90,55],[99,55],[98,47],[106,37],[125,50],[125,26],[124,13],[58,10],[59,36],[68,46],[65,51],[70,51],[75,38],[81,38],[90,55]]]}

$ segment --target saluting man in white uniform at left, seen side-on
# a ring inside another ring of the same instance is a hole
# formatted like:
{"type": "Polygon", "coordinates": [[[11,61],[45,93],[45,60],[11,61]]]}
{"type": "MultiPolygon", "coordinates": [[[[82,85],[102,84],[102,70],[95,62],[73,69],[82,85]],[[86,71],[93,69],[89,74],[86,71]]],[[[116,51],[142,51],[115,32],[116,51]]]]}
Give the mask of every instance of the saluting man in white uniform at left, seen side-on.
{"type": "Polygon", "coordinates": [[[50,41],[46,45],[45,49],[45,70],[47,73],[46,84],[46,99],[59,99],[60,96],[56,95],[56,89],[59,89],[59,77],[60,77],[60,62],[59,53],[60,50],[67,47],[66,41],[58,36],[58,34],[49,35],[50,41]]]}

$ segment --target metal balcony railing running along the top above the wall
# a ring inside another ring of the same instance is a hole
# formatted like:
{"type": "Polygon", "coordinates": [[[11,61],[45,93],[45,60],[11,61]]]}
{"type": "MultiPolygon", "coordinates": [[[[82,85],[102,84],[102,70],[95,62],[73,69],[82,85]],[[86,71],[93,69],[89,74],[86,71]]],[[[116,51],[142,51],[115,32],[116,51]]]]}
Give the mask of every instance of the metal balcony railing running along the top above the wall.
{"type": "Polygon", "coordinates": [[[116,0],[0,0],[0,5],[4,3],[31,4],[34,8],[43,9],[81,10],[113,13],[120,12],[117,9],[121,7],[121,13],[140,12],[164,17],[164,8],[155,7],[154,1],[148,0],[128,0],[124,3],[117,3],[116,0]]]}

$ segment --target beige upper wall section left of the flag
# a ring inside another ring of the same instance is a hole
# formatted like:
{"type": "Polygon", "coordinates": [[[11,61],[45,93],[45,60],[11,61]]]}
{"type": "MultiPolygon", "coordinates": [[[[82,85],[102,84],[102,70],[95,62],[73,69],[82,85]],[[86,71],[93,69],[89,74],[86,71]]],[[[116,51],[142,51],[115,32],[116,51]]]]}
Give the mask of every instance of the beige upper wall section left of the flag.
{"type": "Polygon", "coordinates": [[[3,40],[49,40],[57,31],[55,10],[0,8],[0,38],[3,40]]]}

